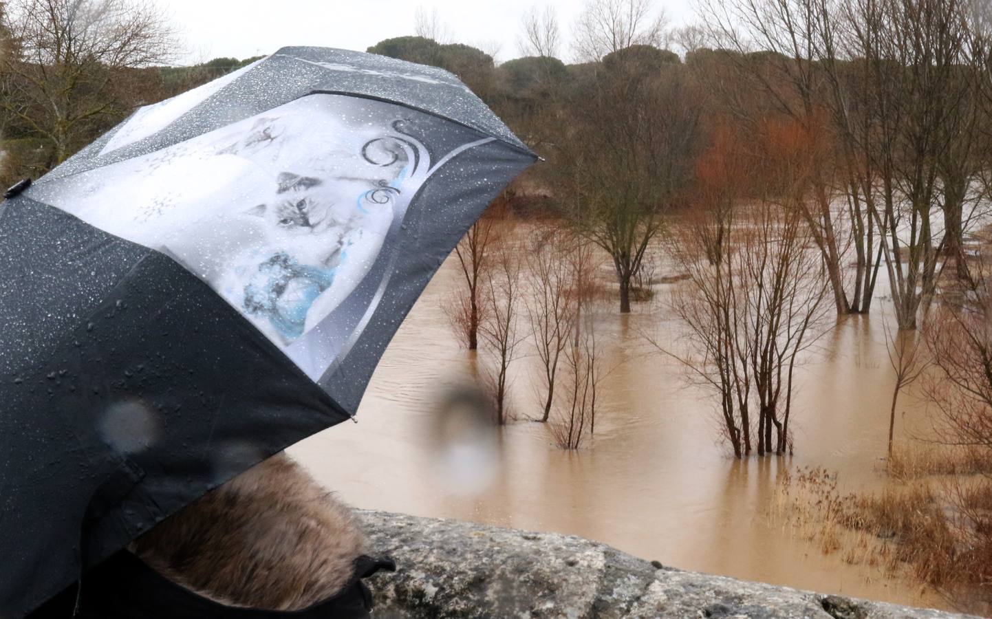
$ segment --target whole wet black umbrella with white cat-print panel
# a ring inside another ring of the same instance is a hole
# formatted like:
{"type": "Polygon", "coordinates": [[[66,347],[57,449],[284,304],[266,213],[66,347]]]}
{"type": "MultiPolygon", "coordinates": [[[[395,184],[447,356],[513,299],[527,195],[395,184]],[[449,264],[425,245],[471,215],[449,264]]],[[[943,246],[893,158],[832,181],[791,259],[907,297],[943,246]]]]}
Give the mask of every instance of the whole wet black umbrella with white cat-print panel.
{"type": "Polygon", "coordinates": [[[0,617],[353,417],[534,160],[446,71],[284,48],[0,205],[0,617]]]}

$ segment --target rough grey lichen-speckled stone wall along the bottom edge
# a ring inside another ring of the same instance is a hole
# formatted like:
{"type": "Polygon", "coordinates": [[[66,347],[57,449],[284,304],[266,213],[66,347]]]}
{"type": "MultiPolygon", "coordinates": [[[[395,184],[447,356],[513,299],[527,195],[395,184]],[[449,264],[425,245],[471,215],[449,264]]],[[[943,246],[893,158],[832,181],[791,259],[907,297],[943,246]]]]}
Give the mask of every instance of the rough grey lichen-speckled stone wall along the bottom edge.
{"type": "Polygon", "coordinates": [[[663,566],[582,538],[360,512],[377,553],[377,619],[962,617],[663,566]]]}

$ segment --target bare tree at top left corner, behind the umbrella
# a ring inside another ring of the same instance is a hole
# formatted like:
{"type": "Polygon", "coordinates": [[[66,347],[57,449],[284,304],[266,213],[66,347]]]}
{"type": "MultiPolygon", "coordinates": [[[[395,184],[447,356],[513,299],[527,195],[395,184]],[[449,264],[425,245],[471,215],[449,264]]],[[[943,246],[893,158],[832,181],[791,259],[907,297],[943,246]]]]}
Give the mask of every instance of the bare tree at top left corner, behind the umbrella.
{"type": "Polygon", "coordinates": [[[122,71],[176,53],[173,30],[150,0],[10,0],[5,8],[18,54],[0,57],[0,108],[49,143],[51,165],[90,138],[94,124],[143,102],[113,96],[122,71]]]}

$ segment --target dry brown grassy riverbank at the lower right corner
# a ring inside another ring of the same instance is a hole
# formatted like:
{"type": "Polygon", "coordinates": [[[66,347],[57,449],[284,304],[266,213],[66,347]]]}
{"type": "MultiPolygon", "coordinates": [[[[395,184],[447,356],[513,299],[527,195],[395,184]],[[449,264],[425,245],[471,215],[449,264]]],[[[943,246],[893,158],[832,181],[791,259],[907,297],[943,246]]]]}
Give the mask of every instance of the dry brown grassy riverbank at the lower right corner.
{"type": "Polygon", "coordinates": [[[992,460],[977,449],[911,443],[887,464],[894,483],[880,492],[843,493],[821,468],[786,475],[775,516],[824,556],[912,578],[992,615],[992,460]]]}

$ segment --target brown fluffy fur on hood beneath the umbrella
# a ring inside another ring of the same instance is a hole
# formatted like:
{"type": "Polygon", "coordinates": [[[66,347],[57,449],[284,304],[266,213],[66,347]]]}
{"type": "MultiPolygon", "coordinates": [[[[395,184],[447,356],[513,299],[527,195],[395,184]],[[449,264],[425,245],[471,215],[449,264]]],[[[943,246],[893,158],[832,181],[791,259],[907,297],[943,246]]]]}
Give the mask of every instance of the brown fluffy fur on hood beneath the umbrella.
{"type": "Polygon", "coordinates": [[[367,546],[350,510],[280,453],[166,519],[130,548],[204,597],[300,610],[340,590],[367,546]]]}

